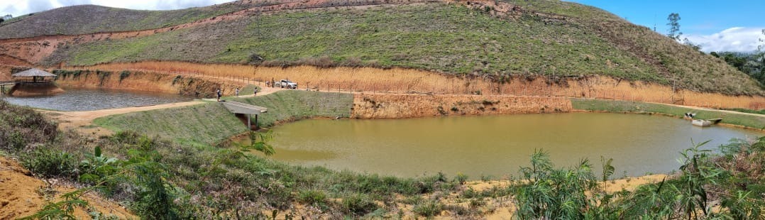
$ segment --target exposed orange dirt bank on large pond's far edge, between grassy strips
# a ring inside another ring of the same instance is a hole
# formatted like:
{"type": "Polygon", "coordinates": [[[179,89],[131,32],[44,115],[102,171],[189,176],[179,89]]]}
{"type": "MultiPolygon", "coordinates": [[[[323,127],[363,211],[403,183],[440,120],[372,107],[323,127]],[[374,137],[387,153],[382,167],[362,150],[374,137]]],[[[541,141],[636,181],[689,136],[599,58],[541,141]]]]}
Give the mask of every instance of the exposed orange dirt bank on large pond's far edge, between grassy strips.
{"type": "Polygon", "coordinates": [[[445,115],[508,115],[571,112],[562,97],[507,95],[359,94],[351,118],[418,118],[445,115]]]}

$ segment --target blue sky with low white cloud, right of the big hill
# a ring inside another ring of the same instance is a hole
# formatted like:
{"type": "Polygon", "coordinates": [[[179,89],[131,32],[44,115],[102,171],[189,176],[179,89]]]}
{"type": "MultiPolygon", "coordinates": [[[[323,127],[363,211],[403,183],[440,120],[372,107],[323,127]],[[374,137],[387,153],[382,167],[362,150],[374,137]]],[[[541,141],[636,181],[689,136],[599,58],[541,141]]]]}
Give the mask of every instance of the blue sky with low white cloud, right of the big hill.
{"type": "Polygon", "coordinates": [[[666,34],[667,16],[680,15],[682,37],[702,44],[705,51],[757,50],[765,28],[765,1],[677,1],[677,0],[571,0],[592,5],[666,34]]]}

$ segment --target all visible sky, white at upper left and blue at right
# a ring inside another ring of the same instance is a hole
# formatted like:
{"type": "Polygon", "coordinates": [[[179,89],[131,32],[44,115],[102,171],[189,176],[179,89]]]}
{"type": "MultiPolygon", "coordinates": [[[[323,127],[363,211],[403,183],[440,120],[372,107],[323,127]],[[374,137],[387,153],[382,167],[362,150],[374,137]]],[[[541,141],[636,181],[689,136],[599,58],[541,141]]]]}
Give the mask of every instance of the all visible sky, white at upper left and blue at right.
{"type": "MultiPolygon", "coordinates": [[[[26,15],[70,5],[103,5],[116,8],[171,10],[199,7],[232,0],[0,0],[0,16],[26,15]]],[[[666,34],[670,13],[679,13],[682,38],[700,44],[702,50],[751,52],[760,45],[765,28],[765,0],[569,0],[603,8],[634,24],[656,27],[666,34]]]]}

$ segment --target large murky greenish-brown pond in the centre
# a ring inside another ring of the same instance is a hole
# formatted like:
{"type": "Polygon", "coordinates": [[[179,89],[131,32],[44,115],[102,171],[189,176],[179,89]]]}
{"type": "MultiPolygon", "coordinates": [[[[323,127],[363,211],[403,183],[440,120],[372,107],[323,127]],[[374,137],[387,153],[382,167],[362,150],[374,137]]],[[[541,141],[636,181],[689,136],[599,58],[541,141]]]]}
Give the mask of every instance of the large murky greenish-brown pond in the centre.
{"type": "MultiPolygon", "coordinates": [[[[614,158],[616,176],[669,173],[691,140],[715,148],[762,134],[698,128],[678,118],[631,114],[536,114],[397,120],[306,120],[274,129],[275,160],[395,176],[439,171],[471,179],[516,175],[535,149],[558,167],[614,158]]],[[[597,169],[596,169],[597,170],[597,169]]],[[[597,171],[598,173],[600,171],[597,171]]]]}

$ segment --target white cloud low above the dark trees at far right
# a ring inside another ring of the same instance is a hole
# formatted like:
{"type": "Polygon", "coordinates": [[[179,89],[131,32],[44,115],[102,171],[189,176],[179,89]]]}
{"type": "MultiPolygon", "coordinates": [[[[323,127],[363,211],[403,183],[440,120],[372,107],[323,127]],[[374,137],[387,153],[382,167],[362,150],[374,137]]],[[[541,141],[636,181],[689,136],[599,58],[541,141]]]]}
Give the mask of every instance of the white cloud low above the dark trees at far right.
{"type": "Polygon", "coordinates": [[[731,27],[715,34],[685,34],[693,44],[700,44],[705,52],[752,52],[760,45],[763,27],[731,27]]]}

